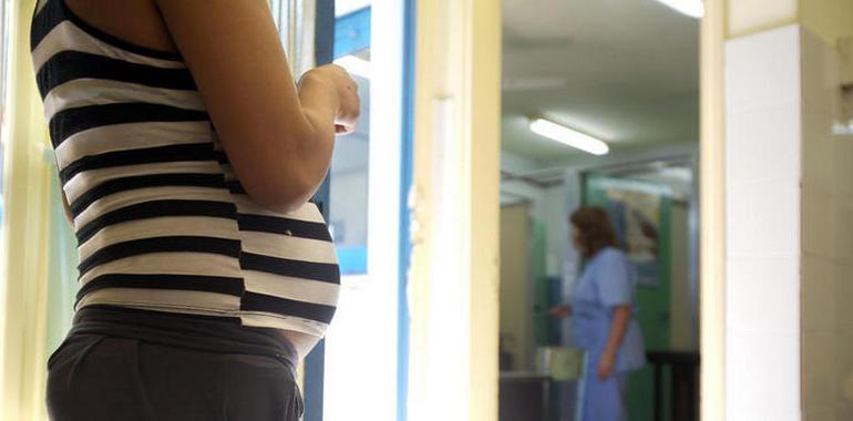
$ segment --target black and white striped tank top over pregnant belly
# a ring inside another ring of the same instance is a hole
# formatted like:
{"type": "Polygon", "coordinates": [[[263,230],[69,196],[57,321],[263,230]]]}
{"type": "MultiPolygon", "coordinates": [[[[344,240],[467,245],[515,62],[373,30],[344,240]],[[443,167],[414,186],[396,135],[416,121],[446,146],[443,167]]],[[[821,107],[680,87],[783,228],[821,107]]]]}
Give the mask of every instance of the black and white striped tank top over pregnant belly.
{"type": "Polygon", "coordinates": [[[253,203],[177,53],[38,2],[31,32],[80,255],[76,308],[107,305],[238,318],[322,337],[340,274],[314,203],[253,203]]]}

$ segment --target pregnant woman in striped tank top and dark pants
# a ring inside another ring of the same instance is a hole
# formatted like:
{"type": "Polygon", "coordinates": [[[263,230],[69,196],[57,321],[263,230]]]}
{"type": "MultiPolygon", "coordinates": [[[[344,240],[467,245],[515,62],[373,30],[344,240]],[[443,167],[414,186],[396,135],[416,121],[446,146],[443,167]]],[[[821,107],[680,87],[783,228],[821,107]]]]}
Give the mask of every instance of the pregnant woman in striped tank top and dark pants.
{"type": "Polygon", "coordinates": [[[267,0],[40,0],[31,42],[80,253],[51,418],[298,420],[339,287],[308,199],[352,79],[297,85],[267,0]]]}

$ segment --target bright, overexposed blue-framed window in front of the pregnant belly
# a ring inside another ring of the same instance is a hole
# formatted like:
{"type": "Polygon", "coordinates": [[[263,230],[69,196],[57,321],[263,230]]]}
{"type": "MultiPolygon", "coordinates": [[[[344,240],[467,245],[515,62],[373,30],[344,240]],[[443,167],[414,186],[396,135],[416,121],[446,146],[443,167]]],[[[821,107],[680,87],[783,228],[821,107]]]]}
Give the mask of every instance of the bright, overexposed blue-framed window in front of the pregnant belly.
{"type": "Polygon", "coordinates": [[[400,223],[408,142],[401,135],[404,4],[335,2],[335,62],[359,83],[361,121],[357,133],[338,140],[331,165],[329,222],[343,276],[326,339],[325,421],[392,420],[404,413],[400,343],[408,341],[398,331],[404,322],[398,306],[400,239],[408,234],[400,223]],[[368,378],[369,390],[360,384],[368,378]]]}

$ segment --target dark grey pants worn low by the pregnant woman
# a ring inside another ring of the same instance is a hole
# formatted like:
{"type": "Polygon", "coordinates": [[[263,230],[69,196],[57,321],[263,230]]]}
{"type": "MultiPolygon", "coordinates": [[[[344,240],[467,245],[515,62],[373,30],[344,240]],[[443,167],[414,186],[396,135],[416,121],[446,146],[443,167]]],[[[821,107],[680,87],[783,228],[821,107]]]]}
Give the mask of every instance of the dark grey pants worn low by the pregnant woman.
{"type": "Polygon", "coordinates": [[[83,309],[48,362],[50,417],[296,421],[295,358],[281,341],[219,320],[83,309]]]}

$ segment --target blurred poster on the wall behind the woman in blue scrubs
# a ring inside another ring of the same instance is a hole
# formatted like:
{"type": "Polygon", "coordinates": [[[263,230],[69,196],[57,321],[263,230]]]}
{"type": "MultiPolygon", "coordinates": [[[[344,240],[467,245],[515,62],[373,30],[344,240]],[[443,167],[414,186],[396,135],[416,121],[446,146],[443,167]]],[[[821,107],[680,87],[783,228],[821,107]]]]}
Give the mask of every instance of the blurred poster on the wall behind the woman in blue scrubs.
{"type": "Polygon", "coordinates": [[[657,287],[666,274],[669,242],[668,186],[646,181],[588,175],[584,203],[604,207],[610,215],[620,247],[639,275],[638,285],[657,287]]]}

